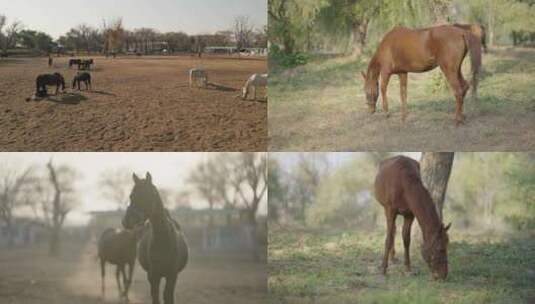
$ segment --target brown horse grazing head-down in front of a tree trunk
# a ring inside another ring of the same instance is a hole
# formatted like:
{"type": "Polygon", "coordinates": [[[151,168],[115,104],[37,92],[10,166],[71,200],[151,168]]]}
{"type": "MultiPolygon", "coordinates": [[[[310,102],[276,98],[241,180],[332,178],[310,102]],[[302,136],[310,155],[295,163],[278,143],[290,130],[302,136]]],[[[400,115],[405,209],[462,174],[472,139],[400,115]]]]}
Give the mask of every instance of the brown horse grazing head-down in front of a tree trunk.
{"type": "Polygon", "coordinates": [[[422,230],[422,256],[431,269],[434,279],[445,279],[448,275],[448,229],[438,216],[431,195],[422,183],[420,164],[405,156],[396,156],[381,162],[375,178],[375,198],[383,205],[386,216],[385,253],[382,263],[386,274],[388,258],[394,258],[394,237],[396,216],[402,215],[403,246],[405,266],[411,271],[409,247],[411,226],[416,217],[422,230]]]}

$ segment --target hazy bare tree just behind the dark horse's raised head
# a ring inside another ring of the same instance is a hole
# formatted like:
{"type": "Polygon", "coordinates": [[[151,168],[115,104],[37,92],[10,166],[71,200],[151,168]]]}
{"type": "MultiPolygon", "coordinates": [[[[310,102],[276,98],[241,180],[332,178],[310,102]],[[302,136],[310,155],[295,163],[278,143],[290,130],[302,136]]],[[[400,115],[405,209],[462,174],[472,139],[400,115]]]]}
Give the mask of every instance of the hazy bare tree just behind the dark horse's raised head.
{"type": "Polygon", "coordinates": [[[132,176],[130,170],[118,168],[102,172],[98,181],[102,196],[113,201],[119,209],[126,209],[132,176]]]}

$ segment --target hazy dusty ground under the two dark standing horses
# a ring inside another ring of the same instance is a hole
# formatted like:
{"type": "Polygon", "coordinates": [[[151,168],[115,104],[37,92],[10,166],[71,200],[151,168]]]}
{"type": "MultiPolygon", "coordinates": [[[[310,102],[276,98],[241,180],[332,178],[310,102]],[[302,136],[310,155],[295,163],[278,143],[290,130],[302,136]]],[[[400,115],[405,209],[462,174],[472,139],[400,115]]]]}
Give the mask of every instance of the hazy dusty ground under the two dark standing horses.
{"type": "MultiPolygon", "coordinates": [[[[108,265],[106,300],[100,293],[100,266],[96,244],[69,244],[61,258],[46,248],[0,250],[0,303],[120,303],[115,267],[108,265]]],[[[179,275],[176,303],[267,303],[265,263],[238,258],[207,258],[192,255],[179,275]]],[[[163,284],[161,286],[163,290],[163,284]]],[[[130,303],[150,303],[145,271],[136,265],[130,303]]]]}

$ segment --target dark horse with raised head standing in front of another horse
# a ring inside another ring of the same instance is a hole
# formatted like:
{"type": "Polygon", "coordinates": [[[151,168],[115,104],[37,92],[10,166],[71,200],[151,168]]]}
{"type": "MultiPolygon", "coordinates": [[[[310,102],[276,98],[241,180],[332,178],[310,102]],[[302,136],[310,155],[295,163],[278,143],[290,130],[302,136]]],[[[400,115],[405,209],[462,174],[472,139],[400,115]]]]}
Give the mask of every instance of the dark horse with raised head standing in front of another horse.
{"type": "Polygon", "coordinates": [[[160,281],[165,278],[164,303],[173,304],[178,273],[188,262],[188,245],[180,226],[164,208],[150,173],[145,179],[135,174],[133,178],[134,188],[123,226],[128,229],[149,220],[149,229],[141,237],[138,247],[139,264],[147,272],[152,303],[160,303],[160,281]]]}

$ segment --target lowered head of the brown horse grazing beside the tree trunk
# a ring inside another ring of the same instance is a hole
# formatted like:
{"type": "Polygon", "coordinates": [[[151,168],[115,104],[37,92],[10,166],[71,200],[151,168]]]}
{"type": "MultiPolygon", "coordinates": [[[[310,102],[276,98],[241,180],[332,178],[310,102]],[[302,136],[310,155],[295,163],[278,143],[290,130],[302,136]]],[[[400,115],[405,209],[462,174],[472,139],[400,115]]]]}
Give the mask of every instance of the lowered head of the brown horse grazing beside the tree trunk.
{"type": "Polygon", "coordinates": [[[448,276],[448,229],[451,223],[444,227],[441,224],[438,232],[422,246],[422,257],[426,261],[433,279],[445,279],[448,276]]]}

